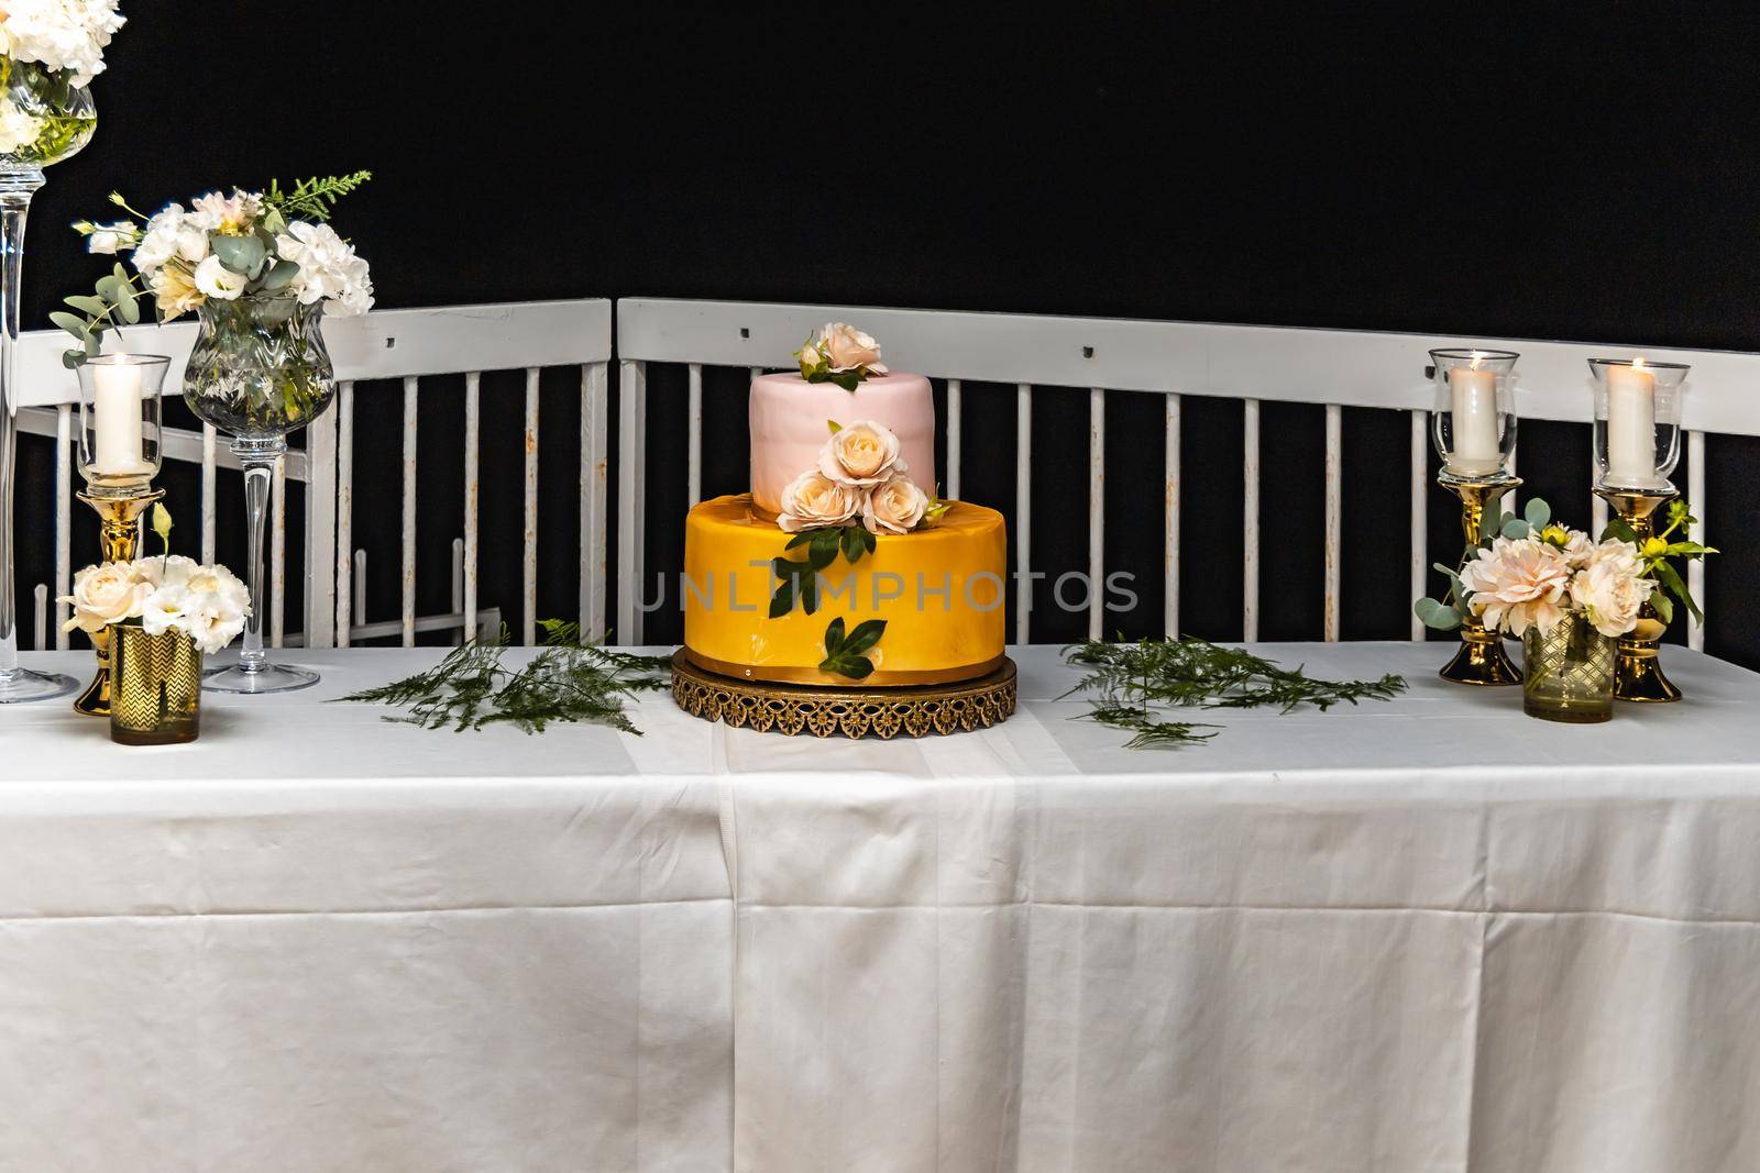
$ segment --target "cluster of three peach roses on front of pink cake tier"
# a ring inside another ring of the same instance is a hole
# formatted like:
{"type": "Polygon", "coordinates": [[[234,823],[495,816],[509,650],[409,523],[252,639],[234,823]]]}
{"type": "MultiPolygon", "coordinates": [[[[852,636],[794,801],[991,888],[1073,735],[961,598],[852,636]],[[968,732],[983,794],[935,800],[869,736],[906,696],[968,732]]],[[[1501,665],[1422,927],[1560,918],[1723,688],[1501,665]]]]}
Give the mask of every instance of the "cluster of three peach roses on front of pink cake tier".
{"type": "Polygon", "coordinates": [[[910,533],[947,512],[947,503],[931,501],[910,480],[910,466],[891,427],[878,420],[855,420],[848,427],[827,424],[831,438],[818,450],[818,464],[781,491],[776,517],[781,529],[803,533],[861,519],[868,533],[910,533]]]}

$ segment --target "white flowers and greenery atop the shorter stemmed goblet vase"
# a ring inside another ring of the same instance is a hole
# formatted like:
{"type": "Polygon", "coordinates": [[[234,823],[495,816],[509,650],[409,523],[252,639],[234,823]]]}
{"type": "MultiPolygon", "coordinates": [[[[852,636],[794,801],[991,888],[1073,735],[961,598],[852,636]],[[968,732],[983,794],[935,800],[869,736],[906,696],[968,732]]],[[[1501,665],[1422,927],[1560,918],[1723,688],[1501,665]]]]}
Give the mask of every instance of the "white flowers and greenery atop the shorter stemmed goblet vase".
{"type": "Polygon", "coordinates": [[[67,352],[67,364],[95,355],[106,329],[139,322],[137,299],[148,294],[160,322],[206,301],[239,297],[289,297],[308,306],[322,301],[334,317],[366,313],[373,308],[368,264],[327,220],[336,200],[368,179],[371,172],[359,171],[303,179],[292,190],[271,183],[268,192],[209,192],[188,209],[171,204],[153,216],[113,193],[111,202],[134,220],[83,220],[74,230],[93,253],[130,253],[136,273],[118,264],[99,280],[95,297],[67,299],[79,313],[49,315],[81,343],[67,352]]]}

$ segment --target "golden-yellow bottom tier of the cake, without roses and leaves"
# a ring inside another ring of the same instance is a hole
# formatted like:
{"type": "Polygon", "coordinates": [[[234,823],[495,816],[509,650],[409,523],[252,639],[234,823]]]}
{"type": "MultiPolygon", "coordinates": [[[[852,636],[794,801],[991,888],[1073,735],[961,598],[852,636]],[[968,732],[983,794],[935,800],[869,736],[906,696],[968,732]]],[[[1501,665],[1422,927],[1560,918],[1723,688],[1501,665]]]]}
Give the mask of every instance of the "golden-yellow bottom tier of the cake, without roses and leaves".
{"type": "Polygon", "coordinates": [[[716,498],[685,522],[685,651],[722,675],[790,684],[945,684],[993,672],[1003,656],[1008,542],[1001,514],[956,501],[928,529],[880,535],[854,566],[838,559],[820,572],[818,610],[796,603],[769,617],[776,580],[771,559],[792,535],[759,514],[750,496],[716,498]],[[852,681],[820,672],[825,628],[885,619],[868,652],[873,675],[852,681]]]}

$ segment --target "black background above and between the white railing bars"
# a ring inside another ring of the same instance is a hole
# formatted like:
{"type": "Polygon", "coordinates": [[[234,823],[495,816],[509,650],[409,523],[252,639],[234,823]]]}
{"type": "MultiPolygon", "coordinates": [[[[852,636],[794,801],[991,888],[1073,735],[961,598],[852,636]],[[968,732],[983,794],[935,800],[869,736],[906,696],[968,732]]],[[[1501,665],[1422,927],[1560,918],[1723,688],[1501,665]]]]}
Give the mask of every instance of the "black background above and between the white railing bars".
{"type": "MultiPolygon", "coordinates": [[[[65,225],[106,213],[111,188],[157,208],[371,167],[338,223],[373,262],[382,306],[651,294],[1760,348],[1753,18],[1427,7],[136,0],[95,86],[99,137],[37,200],[25,320],[102,269],[65,225]]],[[[577,406],[567,378],[546,389],[540,610],[572,614],[577,406]]],[[[517,515],[517,382],[502,390],[486,399],[488,517],[517,515]]],[[[459,524],[454,392],[438,383],[422,419],[424,610],[447,605],[459,524]]],[[[664,461],[681,443],[683,373],[656,371],[653,396],[664,461]]],[[[970,389],[966,412],[966,496],[1007,505],[1012,397],[970,389]]],[[[1186,412],[1186,628],[1239,635],[1239,406],[1186,412]]],[[[394,397],[363,390],[356,499],[373,505],[356,536],[375,617],[396,614],[396,415],[394,397]]],[[[1109,417],[1111,561],[1148,587],[1118,626],[1151,631],[1160,538],[1132,501],[1158,501],[1160,408],[1112,396],[1109,417]]],[[[1035,552],[1052,570],[1084,565],[1084,396],[1040,396],[1035,552]]],[[[739,378],[713,378],[713,491],[743,485],[741,429],[739,378]]],[[[1318,410],[1267,404],[1267,638],[1320,630],[1320,441],[1318,410]]],[[[1353,637],[1406,631],[1404,450],[1404,417],[1346,415],[1353,637]]],[[[1725,545],[1760,499],[1755,468],[1751,441],[1712,440],[1725,545]]],[[[26,587],[51,573],[49,470],[48,443],[26,438],[26,587]]],[[[1586,514],[1586,429],[1524,426],[1522,473],[1586,514]]],[[[234,482],[220,554],[238,565],[234,482]]],[[[165,484],[194,522],[194,471],[165,484]]],[[[653,566],[676,566],[683,506],[683,485],[655,487],[653,566]]],[[[1454,550],[1445,512],[1438,492],[1440,557],[1454,550]]],[[[79,524],[76,557],[93,542],[79,524]]],[[[507,529],[486,538],[484,603],[514,608],[507,529]]],[[[1748,663],[1756,570],[1760,554],[1734,549],[1709,587],[1712,651],[1748,663]]],[[[1047,614],[1037,635],[1082,628],[1047,614]]]]}

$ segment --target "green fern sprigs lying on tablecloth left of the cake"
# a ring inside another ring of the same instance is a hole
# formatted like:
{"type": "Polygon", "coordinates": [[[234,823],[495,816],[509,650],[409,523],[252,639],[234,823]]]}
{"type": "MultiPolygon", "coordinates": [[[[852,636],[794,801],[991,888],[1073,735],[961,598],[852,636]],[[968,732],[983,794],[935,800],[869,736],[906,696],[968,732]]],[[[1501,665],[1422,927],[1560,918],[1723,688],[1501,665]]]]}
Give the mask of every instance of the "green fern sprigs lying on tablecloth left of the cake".
{"type": "Polygon", "coordinates": [[[385,721],[429,730],[512,725],[542,733],[551,723],[588,723],[641,735],[625,702],[664,689],[672,661],[598,647],[583,640],[574,623],[549,619],[542,626],[544,647],[523,668],[503,663],[510,644],[503,626],[498,638],[456,647],[428,672],[340,700],[408,709],[385,721]]]}

